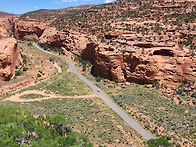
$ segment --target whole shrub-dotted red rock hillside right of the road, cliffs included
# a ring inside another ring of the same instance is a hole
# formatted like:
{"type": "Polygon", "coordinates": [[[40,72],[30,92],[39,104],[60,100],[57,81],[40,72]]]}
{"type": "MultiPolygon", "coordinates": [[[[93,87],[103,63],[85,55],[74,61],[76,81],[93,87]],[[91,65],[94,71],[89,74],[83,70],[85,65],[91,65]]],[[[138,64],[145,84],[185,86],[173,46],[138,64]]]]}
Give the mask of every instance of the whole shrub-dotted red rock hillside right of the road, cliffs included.
{"type": "Polygon", "coordinates": [[[96,76],[172,88],[196,77],[195,2],[116,1],[55,19],[33,13],[47,27],[41,36],[26,34],[91,60],[96,76]]]}

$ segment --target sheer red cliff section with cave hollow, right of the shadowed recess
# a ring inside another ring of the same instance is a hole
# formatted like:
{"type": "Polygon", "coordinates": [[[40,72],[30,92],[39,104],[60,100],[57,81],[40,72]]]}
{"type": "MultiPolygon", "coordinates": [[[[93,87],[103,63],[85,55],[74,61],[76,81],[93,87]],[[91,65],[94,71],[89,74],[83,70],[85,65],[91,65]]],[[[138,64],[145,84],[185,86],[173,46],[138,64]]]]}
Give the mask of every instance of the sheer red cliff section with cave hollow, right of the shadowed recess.
{"type": "Polygon", "coordinates": [[[93,74],[119,82],[159,82],[171,88],[181,85],[185,79],[194,81],[196,59],[180,57],[174,52],[175,49],[157,49],[154,55],[145,56],[114,53],[99,48],[95,51],[93,74]]]}

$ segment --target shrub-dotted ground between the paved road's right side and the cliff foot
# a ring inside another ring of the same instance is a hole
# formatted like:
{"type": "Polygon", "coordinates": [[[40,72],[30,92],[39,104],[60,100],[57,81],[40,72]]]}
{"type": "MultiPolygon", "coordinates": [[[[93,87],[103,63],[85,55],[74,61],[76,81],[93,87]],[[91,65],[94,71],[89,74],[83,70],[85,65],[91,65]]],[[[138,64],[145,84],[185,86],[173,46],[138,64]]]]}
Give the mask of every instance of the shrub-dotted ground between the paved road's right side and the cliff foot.
{"type": "Polygon", "coordinates": [[[157,137],[163,136],[174,145],[195,144],[194,105],[176,103],[172,95],[161,94],[156,86],[97,81],[90,74],[84,75],[157,137]]]}

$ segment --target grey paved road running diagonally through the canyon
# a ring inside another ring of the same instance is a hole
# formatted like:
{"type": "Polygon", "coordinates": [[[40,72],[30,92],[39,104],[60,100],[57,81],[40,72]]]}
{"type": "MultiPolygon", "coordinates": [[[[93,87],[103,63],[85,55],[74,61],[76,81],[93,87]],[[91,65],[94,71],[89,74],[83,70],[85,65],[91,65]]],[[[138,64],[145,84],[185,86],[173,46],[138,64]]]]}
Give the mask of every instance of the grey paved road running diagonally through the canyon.
{"type": "Polygon", "coordinates": [[[93,91],[95,94],[97,94],[110,108],[112,108],[113,111],[115,111],[130,127],[132,127],[134,130],[136,130],[145,140],[149,139],[155,139],[155,137],[147,132],[145,129],[143,129],[133,118],[128,116],[128,114],[123,111],[119,106],[117,106],[103,91],[98,92],[98,87],[95,86],[93,83],[91,83],[89,80],[87,80],[84,76],[82,76],[74,67],[74,64],[59,55],[53,54],[51,52],[43,50],[41,47],[39,47],[37,44],[33,43],[35,47],[37,47],[39,50],[54,55],[56,57],[59,57],[69,63],[69,72],[74,73],[76,76],[78,76],[82,81],[84,81],[93,91]]]}

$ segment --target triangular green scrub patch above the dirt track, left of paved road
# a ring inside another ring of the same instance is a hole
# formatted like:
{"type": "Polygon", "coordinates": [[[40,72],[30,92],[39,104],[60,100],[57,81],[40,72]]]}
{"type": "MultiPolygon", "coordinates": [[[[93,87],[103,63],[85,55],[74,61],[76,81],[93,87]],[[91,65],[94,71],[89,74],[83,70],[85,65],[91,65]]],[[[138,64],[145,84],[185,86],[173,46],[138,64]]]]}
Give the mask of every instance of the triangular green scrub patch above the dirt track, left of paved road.
{"type": "Polygon", "coordinates": [[[92,90],[72,73],[66,71],[26,90],[46,90],[61,96],[80,96],[92,94],[92,90]]]}

